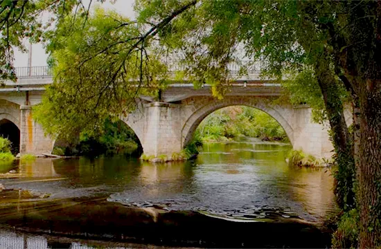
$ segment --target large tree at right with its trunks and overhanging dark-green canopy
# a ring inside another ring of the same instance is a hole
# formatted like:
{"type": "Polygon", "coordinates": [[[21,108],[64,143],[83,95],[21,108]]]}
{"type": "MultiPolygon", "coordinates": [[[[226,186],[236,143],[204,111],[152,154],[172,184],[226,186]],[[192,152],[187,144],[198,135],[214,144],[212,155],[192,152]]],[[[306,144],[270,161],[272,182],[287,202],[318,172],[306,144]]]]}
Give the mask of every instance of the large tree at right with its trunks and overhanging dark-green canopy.
{"type": "MultiPolygon", "coordinates": [[[[137,6],[144,21],[160,19],[171,8],[160,0],[137,6]]],[[[200,1],[187,12],[167,26],[161,41],[182,55],[189,77],[199,82],[223,92],[227,65],[242,57],[265,60],[271,76],[310,72],[332,131],[339,203],[358,205],[360,247],[380,246],[381,2],[200,1]],[[344,119],[345,100],[353,107],[353,135],[344,119]]]]}

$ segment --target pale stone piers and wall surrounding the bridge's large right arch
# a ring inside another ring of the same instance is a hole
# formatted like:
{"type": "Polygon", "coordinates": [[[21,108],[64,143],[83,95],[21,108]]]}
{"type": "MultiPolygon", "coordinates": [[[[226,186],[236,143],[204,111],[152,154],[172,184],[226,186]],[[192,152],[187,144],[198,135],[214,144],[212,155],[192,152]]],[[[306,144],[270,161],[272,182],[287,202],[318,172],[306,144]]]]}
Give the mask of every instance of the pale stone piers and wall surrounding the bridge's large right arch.
{"type": "Polygon", "coordinates": [[[332,155],[328,127],[312,122],[310,108],[273,105],[265,97],[225,96],[217,100],[211,96],[194,96],[176,103],[142,101],[139,111],[131,113],[125,122],[135,131],[145,155],[171,160],[172,154],[179,153],[190,142],[206,116],[233,105],[246,105],[268,113],[285,129],[294,149],[317,158],[332,155]]]}

